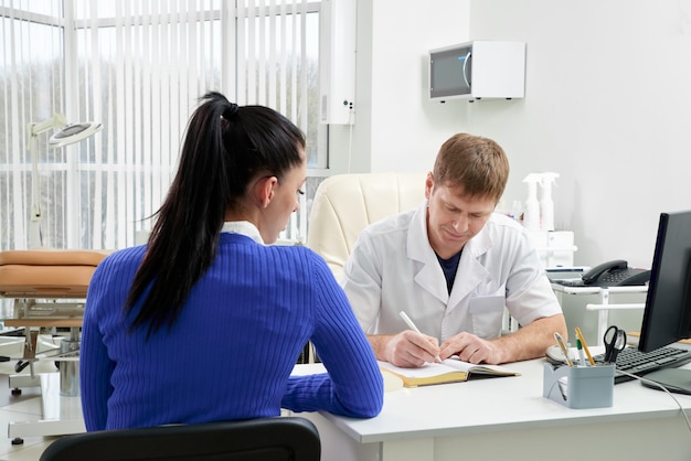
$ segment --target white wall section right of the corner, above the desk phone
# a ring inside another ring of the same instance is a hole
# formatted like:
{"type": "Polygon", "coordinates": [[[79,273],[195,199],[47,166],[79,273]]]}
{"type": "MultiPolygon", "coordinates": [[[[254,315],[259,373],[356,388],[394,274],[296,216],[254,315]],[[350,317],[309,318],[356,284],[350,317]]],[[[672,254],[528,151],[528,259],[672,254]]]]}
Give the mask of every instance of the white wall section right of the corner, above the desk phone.
{"type": "Polygon", "coordinates": [[[472,127],[511,158],[506,197],[531,171],[561,174],[556,221],[581,264],[649,266],[659,213],[691,208],[690,33],[676,0],[471,2],[471,36],[528,43],[525,99],[500,119],[475,105],[472,127]]]}

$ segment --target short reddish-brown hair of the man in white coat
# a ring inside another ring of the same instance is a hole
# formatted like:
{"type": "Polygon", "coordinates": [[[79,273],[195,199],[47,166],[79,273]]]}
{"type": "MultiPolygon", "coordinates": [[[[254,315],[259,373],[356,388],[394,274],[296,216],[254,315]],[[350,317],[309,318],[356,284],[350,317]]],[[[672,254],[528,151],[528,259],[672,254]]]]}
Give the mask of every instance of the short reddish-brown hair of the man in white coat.
{"type": "Polygon", "coordinates": [[[465,196],[499,203],[509,179],[509,159],[496,141],[461,132],[442,144],[433,174],[435,184],[460,186],[465,196]]]}

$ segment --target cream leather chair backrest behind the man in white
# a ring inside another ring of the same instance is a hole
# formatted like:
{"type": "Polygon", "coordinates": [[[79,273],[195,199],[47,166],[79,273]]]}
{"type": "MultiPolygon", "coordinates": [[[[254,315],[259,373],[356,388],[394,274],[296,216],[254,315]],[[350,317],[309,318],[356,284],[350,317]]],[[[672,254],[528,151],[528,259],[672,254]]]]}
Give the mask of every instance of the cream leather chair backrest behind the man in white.
{"type": "Polygon", "coordinates": [[[337,174],[319,184],[309,214],[307,246],[337,279],[369,224],[412,210],[425,199],[426,173],[337,174]]]}

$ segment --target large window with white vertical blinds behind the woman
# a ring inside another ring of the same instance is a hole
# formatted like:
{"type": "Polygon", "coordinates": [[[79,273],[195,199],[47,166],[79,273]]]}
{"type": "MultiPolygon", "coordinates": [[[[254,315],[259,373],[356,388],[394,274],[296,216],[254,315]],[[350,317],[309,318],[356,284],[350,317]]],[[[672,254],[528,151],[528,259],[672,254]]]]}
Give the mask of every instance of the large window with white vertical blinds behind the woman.
{"type": "MultiPolygon", "coordinates": [[[[211,89],[286,115],[307,135],[310,171],[323,171],[319,11],[306,0],[0,0],[0,248],[30,246],[34,184],[44,246],[134,245],[151,227],[187,121],[211,89]],[[26,126],[54,112],[104,129],[55,150],[42,133],[34,182],[26,126]]],[[[308,193],[319,181],[309,180],[308,193]]],[[[305,238],[307,214],[306,202],[285,238],[305,238]]]]}

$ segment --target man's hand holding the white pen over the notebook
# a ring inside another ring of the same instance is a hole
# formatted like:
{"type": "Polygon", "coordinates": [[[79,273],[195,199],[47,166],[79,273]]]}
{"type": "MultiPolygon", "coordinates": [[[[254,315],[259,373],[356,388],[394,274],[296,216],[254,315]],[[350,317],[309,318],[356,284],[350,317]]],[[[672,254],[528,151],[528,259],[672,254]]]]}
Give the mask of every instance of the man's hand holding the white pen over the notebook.
{"type": "Polygon", "coordinates": [[[439,354],[436,337],[419,334],[412,330],[394,335],[370,336],[376,358],[406,368],[423,366],[425,362],[435,362],[439,354]]]}

